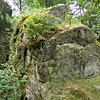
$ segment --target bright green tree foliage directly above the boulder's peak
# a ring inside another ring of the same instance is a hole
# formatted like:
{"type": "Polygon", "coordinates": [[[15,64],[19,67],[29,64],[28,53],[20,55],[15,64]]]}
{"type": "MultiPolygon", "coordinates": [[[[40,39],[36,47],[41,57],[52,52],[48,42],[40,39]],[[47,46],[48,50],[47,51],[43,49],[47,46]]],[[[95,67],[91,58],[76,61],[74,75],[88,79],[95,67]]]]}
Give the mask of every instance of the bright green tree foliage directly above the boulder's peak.
{"type": "Polygon", "coordinates": [[[27,5],[28,9],[33,8],[47,8],[57,4],[71,4],[74,0],[22,0],[24,5],[27,5]]]}

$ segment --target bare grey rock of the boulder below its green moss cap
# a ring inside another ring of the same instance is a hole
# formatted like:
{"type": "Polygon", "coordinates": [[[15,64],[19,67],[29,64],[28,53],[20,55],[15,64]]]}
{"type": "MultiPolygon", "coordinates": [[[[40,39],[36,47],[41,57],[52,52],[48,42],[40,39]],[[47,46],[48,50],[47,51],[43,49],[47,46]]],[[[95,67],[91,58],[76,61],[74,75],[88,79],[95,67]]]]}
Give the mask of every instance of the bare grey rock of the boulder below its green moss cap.
{"type": "MultiPolygon", "coordinates": [[[[63,7],[60,5],[60,9],[63,7]]],[[[100,74],[100,46],[95,42],[97,35],[86,26],[76,25],[49,38],[40,34],[35,36],[35,40],[33,38],[34,35],[29,41],[27,34],[19,32],[13,39],[13,45],[18,44],[15,52],[24,69],[20,73],[29,76],[25,100],[45,100],[44,83],[48,78],[100,74]],[[18,42],[17,36],[21,41],[18,42]]]]}

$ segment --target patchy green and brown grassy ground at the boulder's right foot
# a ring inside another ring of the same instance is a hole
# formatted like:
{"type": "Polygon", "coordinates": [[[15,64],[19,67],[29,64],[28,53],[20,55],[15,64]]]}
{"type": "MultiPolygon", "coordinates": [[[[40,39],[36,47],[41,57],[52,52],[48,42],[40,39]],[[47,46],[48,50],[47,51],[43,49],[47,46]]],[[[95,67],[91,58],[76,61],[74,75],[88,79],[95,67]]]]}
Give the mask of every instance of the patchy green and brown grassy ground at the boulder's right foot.
{"type": "Polygon", "coordinates": [[[45,100],[100,100],[100,76],[88,79],[52,79],[46,83],[45,100]]]}

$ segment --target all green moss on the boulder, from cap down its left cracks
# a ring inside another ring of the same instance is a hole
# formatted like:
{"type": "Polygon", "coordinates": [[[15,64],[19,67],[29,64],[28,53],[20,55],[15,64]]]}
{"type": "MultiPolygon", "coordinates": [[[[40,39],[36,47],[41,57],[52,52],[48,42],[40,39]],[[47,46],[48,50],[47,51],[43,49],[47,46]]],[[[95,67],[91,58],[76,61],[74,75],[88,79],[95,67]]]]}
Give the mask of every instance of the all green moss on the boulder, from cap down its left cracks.
{"type": "MultiPolygon", "coordinates": [[[[34,74],[36,76],[36,70],[40,74],[40,76],[43,76],[43,72],[40,71],[40,61],[38,60],[38,54],[39,50],[45,42],[52,37],[54,34],[58,31],[58,23],[56,23],[55,17],[52,15],[47,14],[47,12],[51,8],[48,8],[43,13],[35,13],[33,14],[27,14],[22,16],[20,21],[17,23],[15,30],[12,34],[12,38],[10,41],[11,50],[15,52],[16,48],[18,50],[17,58],[14,62],[14,66],[17,69],[17,72],[19,75],[31,75],[32,72],[29,72],[29,67],[32,63],[32,56],[30,57],[30,61],[28,64],[25,65],[26,62],[26,53],[25,48],[29,49],[31,52],[31,55],[35,56],[35,59],[33,61],[34,66],[34,74]],[[26,35],[26,40],[22,41],[23,35],[26,35]],[[36,69],[37,68],[37,69],[36,69]]],[[[64,41],[62,41],[64,42],[64,41]]],[[[79,48],[79,45],[75,45],[75,48],[79,48]]],[[[60,49],[60,48],[59,48],[60,49]]],[[[59,52],[59,51],[58,51],[59,52]]],[[[56,63],[50,63],[49,66],[53,68],[52,73],[56,73],[56,63]]],[[[47,77],[47,76],[46,76],[47,77]]],[[[44,78],[44,77],[43,77],[44,78]]],[[[29,79],[28,79],[29,81],[29,79]]],[[[21,86],[22,93],[25,94],[25,85],[22,84],[21,86]],[[22,89],[23,88],[23,89],[22,89]]],[[[58,92],[57,92],[58,93],[58,92]]],[[[62,94],[62,91],[59,92],[59,94],[62,94]]],[[[41,99],[42,100],[42,99],[41,99]]],[[[60,100],[60,99],[59,99],[60,100]]]]}

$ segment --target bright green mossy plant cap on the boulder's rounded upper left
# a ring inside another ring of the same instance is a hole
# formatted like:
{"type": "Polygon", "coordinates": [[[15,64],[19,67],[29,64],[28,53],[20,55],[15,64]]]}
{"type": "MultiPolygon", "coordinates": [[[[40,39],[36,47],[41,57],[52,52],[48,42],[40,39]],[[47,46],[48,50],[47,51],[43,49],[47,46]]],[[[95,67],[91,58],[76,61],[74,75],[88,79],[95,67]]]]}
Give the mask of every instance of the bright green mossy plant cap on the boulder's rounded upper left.
{"type": "Polygon", "coordinates": [[[41,40],[44,41],[44,37],[48,34],[53,35],[56,33],[57,25],[56,18],[47,12],[22,15],[12,34],[11,48],[14,49],[16,46],[19,46],[23,34],[26,34],[27,41],[25,43],[27,46],[31,45],[30,43],[34,44],[41,40]]]}

